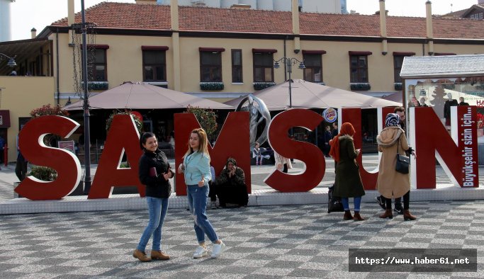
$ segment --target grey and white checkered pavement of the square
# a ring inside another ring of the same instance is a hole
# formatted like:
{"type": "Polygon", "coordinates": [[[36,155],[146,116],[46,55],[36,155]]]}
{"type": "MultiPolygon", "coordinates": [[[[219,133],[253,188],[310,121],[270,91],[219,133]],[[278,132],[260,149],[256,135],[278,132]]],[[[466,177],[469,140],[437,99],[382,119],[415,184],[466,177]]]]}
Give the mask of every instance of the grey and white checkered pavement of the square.
{"type": "Polygon", "coordinates": [[[407,222],[378,218],[376,203],[362,205],[363,222],[327,205],[208,210],[227,245],[216,259],[192,258],[193,221],[169,210],[162,249],[171,259],[150,263],[131,256],[145,210],[2,215],[0,278],[484,278],[483,200],[410,206],[418,219],[407,222]],[[478,272],[349,273],[349,248],[477,248],[478,272]]]}

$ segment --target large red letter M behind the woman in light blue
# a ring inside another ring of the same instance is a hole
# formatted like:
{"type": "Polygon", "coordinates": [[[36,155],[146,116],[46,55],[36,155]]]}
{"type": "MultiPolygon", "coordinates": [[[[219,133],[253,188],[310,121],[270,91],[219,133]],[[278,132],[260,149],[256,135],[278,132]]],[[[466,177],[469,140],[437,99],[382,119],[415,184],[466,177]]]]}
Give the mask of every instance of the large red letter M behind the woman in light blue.
{"type": "MultiPolygon", "coordinates": [[[[188,149],[188,138],[193,129],[199,128],[200,123],[193,113],[175,114],[175,168],[183,162],[183,156],[188,149]]],[[[210,140],[210,139],[209,139],[210,140]]],[[[222,171],[227,159],[234,158],[245,174],[247,192],[251,193],[250,173],[250,143],[249,143],[249,113],[232,112],[220,130],[217,142],[211,147],[208,144],[210,153],[210,165],[215,169],[215,175],[222,171]]],[[[186,185],[183,173],[176,171],[176,195],[186,195],[186,185]]]]}

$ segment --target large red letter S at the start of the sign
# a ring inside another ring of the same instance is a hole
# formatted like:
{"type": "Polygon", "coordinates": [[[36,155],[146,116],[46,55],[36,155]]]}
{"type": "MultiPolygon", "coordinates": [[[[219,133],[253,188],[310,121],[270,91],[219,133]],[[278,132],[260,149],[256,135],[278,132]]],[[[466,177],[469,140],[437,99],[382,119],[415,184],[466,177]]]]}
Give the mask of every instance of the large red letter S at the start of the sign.
{"type": "Polygon", "coordinates": [[[28,176],[15,189],[19,195],[30,200],[59,200],[72,193],[81,180],[79,159],[67,150],[47,147],[44,137],[47,134],[69,137],[77,127],[79,123],[59,115],[34,118],[23,126],[18,135],[18,146],[23,157],[32,164],[55,169],[57,179],[41,181],[28,176]]]}

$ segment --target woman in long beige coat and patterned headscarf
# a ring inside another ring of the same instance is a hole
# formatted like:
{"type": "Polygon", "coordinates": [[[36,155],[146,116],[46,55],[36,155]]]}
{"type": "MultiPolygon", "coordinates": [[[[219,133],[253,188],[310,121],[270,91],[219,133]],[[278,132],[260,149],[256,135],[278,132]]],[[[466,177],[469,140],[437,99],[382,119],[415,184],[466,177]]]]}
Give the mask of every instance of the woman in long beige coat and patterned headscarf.
{"type": "Polygon", "coordinates": [[[393,218],[392,198],[403,196],[403,219],[415,220],[415,216],[409,212],[410,203],[410,176],[395,171],[398,154],[405,155],[410,152],[415,156],[412,147],[408,146],[405,131],[400,128],[400,116],[396,113],[388,113],[385,118],[385,129],[376,137],[378,151],[382,152],[380,166],[378,169],[378,180],[376,182],[378,192],[385,200],[385,213],[380,218],[393,218]]]}

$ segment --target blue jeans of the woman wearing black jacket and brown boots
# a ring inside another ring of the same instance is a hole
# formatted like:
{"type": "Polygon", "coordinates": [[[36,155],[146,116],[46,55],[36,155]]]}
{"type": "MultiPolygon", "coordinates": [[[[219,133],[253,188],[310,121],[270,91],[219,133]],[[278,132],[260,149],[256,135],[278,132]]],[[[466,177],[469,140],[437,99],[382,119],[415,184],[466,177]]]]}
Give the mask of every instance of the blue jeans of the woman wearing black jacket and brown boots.
{"type": "Polygon", "coordinates": [[[148,204],[148,215],[150,221],[146,226],[145,232],[143,232],[140,243],[137,244],[137,249],[144,252],[146,244],[153,236],[153,251],[161,251],[162,246],[162,227],[164,217],[167,216],[168,211],[168,198],[153,198],[146,197],[148,204]]]}

